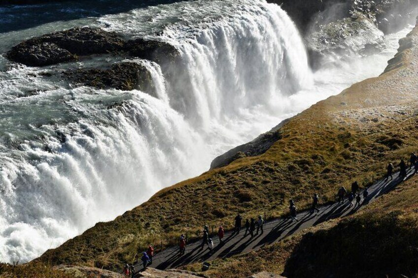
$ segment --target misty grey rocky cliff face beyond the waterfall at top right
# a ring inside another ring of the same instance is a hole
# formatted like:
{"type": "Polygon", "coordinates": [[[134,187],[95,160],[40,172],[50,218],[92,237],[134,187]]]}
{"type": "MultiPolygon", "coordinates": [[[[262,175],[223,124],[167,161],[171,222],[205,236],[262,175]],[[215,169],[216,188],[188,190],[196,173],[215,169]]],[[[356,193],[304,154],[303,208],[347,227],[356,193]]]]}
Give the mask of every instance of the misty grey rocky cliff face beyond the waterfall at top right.
{"type": "Polygon", "coordinates": [[[414,24],[417,0],[270,0],[281,5],[305,35],[311,64],[330,54],[381,49],[383,35],[414,24]]]}

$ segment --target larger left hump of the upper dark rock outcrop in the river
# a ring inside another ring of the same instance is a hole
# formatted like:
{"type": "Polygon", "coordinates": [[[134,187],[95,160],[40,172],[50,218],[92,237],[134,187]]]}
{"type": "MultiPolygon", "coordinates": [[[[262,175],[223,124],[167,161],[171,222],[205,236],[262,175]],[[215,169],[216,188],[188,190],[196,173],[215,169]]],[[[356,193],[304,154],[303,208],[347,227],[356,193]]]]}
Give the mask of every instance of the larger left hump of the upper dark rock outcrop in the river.
{"type": "Polygon", "coordinates": [[[6,57],[30,66],[75,61],[78,56],[122,51],[124,41],[116,33],[99,28],[72,28],[35,37],[14,46],[6,57]]]}

